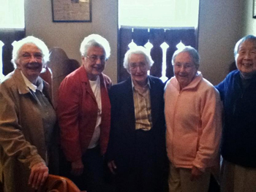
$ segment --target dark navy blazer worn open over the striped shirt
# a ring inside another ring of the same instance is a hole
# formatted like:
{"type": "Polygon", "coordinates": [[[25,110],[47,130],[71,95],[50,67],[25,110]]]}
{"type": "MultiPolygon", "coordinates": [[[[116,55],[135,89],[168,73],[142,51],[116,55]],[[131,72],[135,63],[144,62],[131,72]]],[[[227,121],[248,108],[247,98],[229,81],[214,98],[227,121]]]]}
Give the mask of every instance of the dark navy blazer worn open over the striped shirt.
{"type": "MultiPolygon", "coordinates": [[[[151,151],[153,161],[165,161],[164,83],[157,77],[148,76],[150,83],[152,128],[146,150],[151,151]]],[[[110,88],[111,128],[108,145],[108,161],[114,160],[118,172],[128,171],[135,158],[136,140],[135,107],[131,77],[110,88]]],[[[137,130],[138,131],[138,130],[137,130]]],[[[149,134],[150,133],[150,134],[149,134]]],[[[146,136],[147,137],[147,136],[146,136]]],[[[152,159],[151,159],[152,160],[152,159]]]]}

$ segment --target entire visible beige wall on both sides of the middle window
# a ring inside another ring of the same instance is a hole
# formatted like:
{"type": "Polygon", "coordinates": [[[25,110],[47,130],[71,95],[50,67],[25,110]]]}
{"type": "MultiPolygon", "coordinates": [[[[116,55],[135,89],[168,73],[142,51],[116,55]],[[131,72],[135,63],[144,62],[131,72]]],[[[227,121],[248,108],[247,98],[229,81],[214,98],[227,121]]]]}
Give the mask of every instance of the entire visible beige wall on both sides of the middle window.
{"type": "MultiPolygon", "coordinates": [[[[26,34],[42,38],[48,47],[62,47],[80,61],[83,37],[101,34],[109,40],[111,56],[105,74],[117,79],[118,0],[93,0],[91,23],[53,23],[51,0],[26,0],[26,34]]],[[[198,50],[200,71],[214,85],[222,81],[233,62],[233,47],[244,34],[255,34],[251,0],[201,0],[198,50]],[[245,7],[245,8],[244,8],[245,7]],[[250,8],[249,8],[250,7],[250,8]],[[249,9],[247,12],[246,10],[249,9]],[[243,18],[246,16],[246,28],[243,18]],[[249,19],[250,18],[250,19],[249,19]],[[244,30],[243,30],[244,28],[244,30]]]]}

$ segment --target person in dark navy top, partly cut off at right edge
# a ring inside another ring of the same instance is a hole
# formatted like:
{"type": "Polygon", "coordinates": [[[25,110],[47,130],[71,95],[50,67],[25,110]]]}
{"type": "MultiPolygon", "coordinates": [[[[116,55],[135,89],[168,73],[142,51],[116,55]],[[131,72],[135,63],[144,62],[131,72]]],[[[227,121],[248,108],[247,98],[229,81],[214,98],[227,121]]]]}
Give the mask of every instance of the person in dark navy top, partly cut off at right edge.
{"type": "Polygon", "coordinates": [[[222,191],[256,191],[256,37],[236,43],[238,70],[217,89],[224,106],[222,191]]]}

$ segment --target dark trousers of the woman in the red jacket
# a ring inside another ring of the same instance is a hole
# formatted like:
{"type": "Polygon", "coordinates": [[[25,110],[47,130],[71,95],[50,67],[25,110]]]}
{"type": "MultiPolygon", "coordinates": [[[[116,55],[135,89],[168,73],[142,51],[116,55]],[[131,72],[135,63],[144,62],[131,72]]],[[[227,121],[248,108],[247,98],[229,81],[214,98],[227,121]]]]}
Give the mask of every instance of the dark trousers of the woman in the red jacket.
{"type": "Polygon", "coordinates": [[[84,166],[83,174],[79,176],[70,174],[71,163],[66,162],[67,166],[66,171],[64,172],[64,176],[72,180],[75,185],[80,188],[80,191],[111,191],[110,185],[105,182],[104,159],[100,154],[99,147],[86,150],[86,153],[82,157],[82,161],[84,166]]]}

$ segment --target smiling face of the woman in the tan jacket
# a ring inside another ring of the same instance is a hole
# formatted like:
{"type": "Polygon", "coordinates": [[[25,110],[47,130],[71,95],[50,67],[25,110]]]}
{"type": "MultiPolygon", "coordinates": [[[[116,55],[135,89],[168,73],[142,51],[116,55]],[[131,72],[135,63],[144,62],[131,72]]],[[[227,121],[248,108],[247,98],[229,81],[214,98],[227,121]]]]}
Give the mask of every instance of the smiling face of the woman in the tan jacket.
{"type": "Polygon", "coordinates": [[[23,45],[20,47],[16,65],[30,82],[36,84],[42,71],[42,51],[32,43],[23,45]]]}

